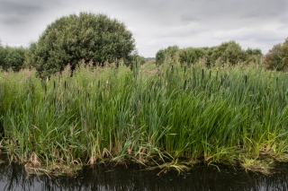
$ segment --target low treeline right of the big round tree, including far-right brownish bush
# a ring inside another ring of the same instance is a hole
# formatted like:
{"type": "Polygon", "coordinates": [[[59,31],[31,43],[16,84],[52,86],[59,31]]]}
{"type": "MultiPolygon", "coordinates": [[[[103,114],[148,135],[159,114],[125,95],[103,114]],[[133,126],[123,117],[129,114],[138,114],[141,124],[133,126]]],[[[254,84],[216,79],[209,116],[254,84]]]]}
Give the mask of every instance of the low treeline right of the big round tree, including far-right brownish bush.
{"type": "Polygon", "coordinates": [[[178,60],[181,64],[194,64],[202,59],[206,66],[263,63],[266,69],[284,71],[288,68],[288,39],[275,45],[265,56],[261,49],[243,49],[234,40],[223,42],[216,47],[179,48],[175,45],[157,51],[157,65],[169,59],[178,60]]]}

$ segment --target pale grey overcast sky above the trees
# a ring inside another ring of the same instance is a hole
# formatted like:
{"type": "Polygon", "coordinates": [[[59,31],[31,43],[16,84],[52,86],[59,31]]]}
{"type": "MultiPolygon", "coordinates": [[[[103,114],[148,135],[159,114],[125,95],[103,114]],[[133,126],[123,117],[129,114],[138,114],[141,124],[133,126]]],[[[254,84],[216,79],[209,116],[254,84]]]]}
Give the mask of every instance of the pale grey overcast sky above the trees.
{"type": "Polygon", "coordinates": [[[63,15],[105,13],[132,31],[139,54],[235,40],[266,52],[288,38],[287,0],[0,0],[3,45],[28,47],[63,15]]]}

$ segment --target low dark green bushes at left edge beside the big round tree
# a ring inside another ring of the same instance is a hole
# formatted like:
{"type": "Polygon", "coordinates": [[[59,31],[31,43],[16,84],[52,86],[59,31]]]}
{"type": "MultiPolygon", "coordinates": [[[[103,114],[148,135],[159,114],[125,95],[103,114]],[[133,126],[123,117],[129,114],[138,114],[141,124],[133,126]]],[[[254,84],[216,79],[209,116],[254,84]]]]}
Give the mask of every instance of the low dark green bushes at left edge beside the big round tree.
{"type": "Polygon", "coordinates": [[[23,47],[2,47],[0,45],[0,66],[4,70],[12,69],[19,71],[23,68],[24,55],[27,48],[23,47]]]}

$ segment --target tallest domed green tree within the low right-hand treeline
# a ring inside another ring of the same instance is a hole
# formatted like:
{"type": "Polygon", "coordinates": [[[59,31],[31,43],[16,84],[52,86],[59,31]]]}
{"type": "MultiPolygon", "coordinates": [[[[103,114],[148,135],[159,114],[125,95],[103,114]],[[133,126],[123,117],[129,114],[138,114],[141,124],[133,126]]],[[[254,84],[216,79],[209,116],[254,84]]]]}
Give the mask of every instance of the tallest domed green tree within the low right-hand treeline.
{"type": "Polygon", "coordinates": [[[246,58],[246,52],[242,50],[238,43],[231,40],[223,42],[220,46],[213,49],[211,63],[215,64],[216,60],[220,59],[221,62],[237,65],[240,62],[244,62],[246,58]]]}

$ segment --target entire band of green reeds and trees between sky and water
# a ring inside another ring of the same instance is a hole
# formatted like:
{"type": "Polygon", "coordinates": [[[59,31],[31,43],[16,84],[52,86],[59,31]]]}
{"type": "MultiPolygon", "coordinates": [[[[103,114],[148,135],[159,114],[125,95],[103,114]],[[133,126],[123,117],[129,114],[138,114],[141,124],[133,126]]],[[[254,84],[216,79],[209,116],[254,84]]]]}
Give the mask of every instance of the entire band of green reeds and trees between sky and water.
{"type": "Polygon", "coordinates": [[[288,159],[288,39],[266,56],[229,41],[147,63],[134,48],[123,23],[93,13],[58,19],[28,49],[1,45],[1,150],[58,168],[288,159]]]}

